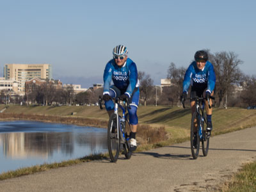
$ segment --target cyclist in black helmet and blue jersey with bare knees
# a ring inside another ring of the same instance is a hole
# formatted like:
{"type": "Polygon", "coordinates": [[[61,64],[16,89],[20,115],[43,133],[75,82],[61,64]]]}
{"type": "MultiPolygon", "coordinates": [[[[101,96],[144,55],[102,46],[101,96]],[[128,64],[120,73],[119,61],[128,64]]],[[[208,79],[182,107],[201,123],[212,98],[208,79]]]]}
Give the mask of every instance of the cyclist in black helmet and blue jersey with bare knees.
{"type": "MultiPolygon", "coordinates": [[[[191,84],[190,93],[190,104],[192,109],[192,115],[195,111],[195,96],[202,97],[202,95],[207,99],[214,94],[216,76],[212,63],[208,60],[207,52],[201,50],[196,51],[195,61],[193,61],[184,76],[183,81],[183,92],[180,97],[181,100],[186,100],[188,95],[188,89],[191,84]]],[[[212,100],[210,100],[210,105],[212,105],[212,100]]],[[[207,127],[206,130],[211,134],[212,131],[212,108],[209,109],[208,102],[205,100],[205,109],[207,114],[207,127]]],[[[196,124],[196,122],[195,122],[196,124]]],[[[196,125],[195,125],[196,127],[196,125]]]]}

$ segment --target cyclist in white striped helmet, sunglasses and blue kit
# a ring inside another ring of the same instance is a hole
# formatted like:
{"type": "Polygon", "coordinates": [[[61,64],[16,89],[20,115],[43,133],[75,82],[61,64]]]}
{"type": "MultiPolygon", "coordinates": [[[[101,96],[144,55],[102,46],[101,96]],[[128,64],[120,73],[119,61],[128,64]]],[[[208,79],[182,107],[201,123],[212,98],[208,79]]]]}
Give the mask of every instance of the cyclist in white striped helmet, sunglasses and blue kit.
{"type": "Polygon", "coordinates": [[[139,80],[136,64],[127,57],[128,50],[124,45],[117,45],[113,49],[113,59],[108,61],[104,70],[104,91],[102,99],[105,101],[109,116],[114,113],[113,99],[128,99],[131,109],[129,122],[131,124],[131,151],[136,150],[136,132],[138,127],[137,109],[139,105],[139,80]],[[111,81],[113,84],[111,85],[111,81]]]}

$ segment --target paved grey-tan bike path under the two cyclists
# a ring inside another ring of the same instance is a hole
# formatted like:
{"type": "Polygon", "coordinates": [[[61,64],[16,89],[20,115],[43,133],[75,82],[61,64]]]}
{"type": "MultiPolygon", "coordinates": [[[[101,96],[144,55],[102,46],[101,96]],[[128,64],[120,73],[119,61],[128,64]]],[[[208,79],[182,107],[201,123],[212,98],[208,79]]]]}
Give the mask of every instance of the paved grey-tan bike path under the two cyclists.
{"type": "Polygon", "coordinates": [[[256,160],[256,127],[210,139],[207,157],[193,160],[190,143],[77,164],[0,181],[0,191],[214,191],[243,163],[256,160]]]}

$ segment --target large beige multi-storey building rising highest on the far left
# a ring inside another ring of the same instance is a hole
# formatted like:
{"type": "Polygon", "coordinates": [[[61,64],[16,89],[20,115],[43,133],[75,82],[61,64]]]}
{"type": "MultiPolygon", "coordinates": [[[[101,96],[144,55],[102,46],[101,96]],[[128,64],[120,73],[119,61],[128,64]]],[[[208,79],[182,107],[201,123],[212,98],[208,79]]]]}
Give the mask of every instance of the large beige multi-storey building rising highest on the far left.
{"type": "Polygon", "coordinates": [[[6,64],[4,78],[18,83],[18,92],[25,92],[25,82],[33,77],[52,79],[52,67],[49,64],[6,64]]]}

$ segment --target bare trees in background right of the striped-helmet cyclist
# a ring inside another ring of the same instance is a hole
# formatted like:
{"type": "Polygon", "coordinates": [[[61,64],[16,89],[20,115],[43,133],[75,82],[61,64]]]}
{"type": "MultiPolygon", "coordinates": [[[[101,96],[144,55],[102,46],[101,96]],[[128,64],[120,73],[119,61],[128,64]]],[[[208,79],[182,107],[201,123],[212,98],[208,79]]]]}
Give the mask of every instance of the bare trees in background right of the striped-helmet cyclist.
{"type": "MultiPolygon", "coordinates": [[[[227,107],[226,105],[241,108],[256,106],[256,77],[241,72],[239,66],[243,64],[243,61],[239,60],[237,54],[227,51],[212,54],[209,50],[205,51],[209,54],[209,61],[214,66],[216,74],[215,106],[218,108],[227,107]]],[[[182,83],[188,66],[186,68],[177,67],[175,63],[170,63],[166,78],[170,79],[171,86],[161,88],[158,104],[180,105],[182,83]]],[[[154,92],[157,91],[156,87],[151,84],[150,88],[146,88],[145,86],[150,84],[152,79],[150,76],[144,77],[145,79],[142,78],[143,81],[148,81],[148,83],[141,84],[141,95],[145,101],[147,100],[147,104],[155,104],[156,96],[154,98],[154,92]],[[147,96],[143,96],[146,94],[147,96]]]]}

